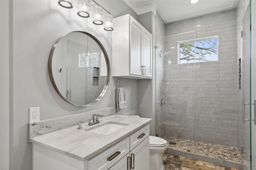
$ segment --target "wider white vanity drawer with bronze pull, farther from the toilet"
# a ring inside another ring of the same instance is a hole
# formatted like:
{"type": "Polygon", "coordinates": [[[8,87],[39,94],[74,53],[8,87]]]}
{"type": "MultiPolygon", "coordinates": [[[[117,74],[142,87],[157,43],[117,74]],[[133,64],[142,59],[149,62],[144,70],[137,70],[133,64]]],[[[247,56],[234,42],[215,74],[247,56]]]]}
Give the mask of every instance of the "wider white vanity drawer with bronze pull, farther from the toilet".
{"type": "Polygon", "coordinates": [[[129,153],[129,137],[87,161],[88,170],[107,170],[129,153]]]}

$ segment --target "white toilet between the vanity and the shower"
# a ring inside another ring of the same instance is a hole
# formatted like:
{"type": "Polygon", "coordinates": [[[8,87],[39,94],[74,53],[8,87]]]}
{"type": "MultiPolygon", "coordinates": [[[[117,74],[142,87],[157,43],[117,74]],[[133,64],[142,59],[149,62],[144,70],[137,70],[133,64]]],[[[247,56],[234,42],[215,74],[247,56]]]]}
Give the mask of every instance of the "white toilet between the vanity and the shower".
{"type": "Polygon", "coordinates": [[[167,149],[167,141],[155,136],[149,136],[150,170],[163,170],[163,153],[167,149]]]}

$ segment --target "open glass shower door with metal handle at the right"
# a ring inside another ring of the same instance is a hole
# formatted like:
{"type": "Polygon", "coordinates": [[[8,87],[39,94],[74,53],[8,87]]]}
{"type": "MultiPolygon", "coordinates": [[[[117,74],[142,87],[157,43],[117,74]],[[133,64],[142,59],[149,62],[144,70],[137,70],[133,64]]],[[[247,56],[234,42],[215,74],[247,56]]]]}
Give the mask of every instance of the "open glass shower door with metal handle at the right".
{"type": "MultiPolygon", "coordinates": [[[[250,3],[242,20],[241,32],[241,59],[239,62],[239,88],[241,89],[241,116],[238,123],[238,141],[241,138],[240,147],[242,155],[242,164],[244,170],[251,169],[251,121],[252,107],[255,106],[251,100],[251,54],[250,54],[250,3]]],[[[238,115],[239,117],[239,115],[238,115]]]]}

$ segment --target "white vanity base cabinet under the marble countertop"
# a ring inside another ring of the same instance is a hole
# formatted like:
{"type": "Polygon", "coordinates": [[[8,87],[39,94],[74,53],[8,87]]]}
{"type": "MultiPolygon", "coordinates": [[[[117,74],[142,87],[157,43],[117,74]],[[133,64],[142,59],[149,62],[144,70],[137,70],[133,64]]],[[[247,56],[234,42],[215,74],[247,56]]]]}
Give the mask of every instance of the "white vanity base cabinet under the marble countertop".
{"type": "Polygon", "coordinates": [[[88,160],[75,157],[33,143],[33,170],[148,170],[149,125],[88,160]]]}

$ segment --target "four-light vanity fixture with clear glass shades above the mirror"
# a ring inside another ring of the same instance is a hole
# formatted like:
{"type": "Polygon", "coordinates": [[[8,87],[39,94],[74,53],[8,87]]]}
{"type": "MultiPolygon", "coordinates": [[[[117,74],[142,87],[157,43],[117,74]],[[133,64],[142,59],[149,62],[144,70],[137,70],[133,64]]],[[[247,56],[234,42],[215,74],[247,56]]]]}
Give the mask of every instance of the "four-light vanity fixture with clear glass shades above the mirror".
{"type": "MultiPolygon", "coordinates": [[[[63,8],[73,8],[72,0],[59,0],[58,4],[62,6],[63,8]]],[[[103,25],[103,11],[107,13],[106,16],[106,22],[104,25],[104,30],[106,31],[113,31],[113,16],[110,12],[108,12],[105,8],[100,6],[97,2],[94,0],[80,0],[79,6],[78,6],[78,12],[77,15],[82,18],[89,18],[90,17],[90,4],[96,4],[95,10],[94,10],[94,19],[93,22],[95,25],[103,25]],[[90,3],[92,2],[92,3],[90,3]]]]}

